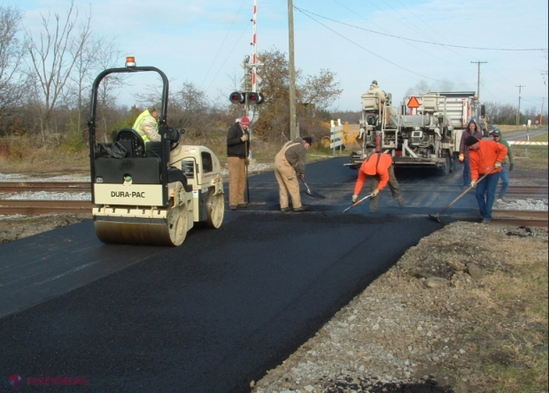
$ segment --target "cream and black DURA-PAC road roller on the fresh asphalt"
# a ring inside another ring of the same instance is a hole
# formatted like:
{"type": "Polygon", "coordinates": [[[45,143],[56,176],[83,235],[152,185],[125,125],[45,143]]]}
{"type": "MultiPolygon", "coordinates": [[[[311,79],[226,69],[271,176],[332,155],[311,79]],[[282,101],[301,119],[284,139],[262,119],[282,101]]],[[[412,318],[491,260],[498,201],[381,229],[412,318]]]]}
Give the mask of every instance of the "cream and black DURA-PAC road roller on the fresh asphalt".
{"type": "Polygon", "coordinates": [[[156,67],[126,66],[100,73],[92,86],[89,147],[93,220],[104,243],[178,246],[196,226],[218,228],[225,203],[220,161],[205,146],[182,143],[184,130],[167,125],[168,80],[156,67]],[[159,142],[143,141],[131,128],[96,141],[97,91],[112,73],[159,73],[163,81],[159,142]]]}

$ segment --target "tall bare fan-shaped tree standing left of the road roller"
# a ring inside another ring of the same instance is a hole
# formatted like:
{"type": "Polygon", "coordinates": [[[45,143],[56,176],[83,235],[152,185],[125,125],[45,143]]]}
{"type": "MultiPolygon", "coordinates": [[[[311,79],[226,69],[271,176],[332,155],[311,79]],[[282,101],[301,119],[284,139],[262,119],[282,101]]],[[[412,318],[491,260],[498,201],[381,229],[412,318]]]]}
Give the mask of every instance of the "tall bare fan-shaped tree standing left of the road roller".
{"type": "Polygon", "coordinates": [[[41,125],[44,143],[52,132],[54,109],[62,100],[66,83],[91,35],[91,17],[88,16],[80,26],[77,26],[78,20],[79,13],[71,2],[66,19],[61,19],[58,13],[54,14],[53,22],[50,14],[47,18],[42,16],[43,31],[39,39],[27,31],[29,73],[35,76],[44,101],[41,125]]]}

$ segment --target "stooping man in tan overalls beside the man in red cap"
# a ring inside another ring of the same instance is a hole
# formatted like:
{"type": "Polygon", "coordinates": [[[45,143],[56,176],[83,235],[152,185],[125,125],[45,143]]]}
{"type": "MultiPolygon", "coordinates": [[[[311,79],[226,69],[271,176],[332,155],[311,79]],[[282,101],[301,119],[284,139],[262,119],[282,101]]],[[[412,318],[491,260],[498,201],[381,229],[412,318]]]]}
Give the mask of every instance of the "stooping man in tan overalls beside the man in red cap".
{"type": "Polygon", "coordinates": [[[301,180],[305,179],[305,153],[312,143],[313,138],[310,136],[296,138],[284,144],[274,158],[274,176],[280,191],[281,212],[290,212],[289,193],[294,212],[309,210],[308,206],[301,204],[298,176],[301,180]]]}

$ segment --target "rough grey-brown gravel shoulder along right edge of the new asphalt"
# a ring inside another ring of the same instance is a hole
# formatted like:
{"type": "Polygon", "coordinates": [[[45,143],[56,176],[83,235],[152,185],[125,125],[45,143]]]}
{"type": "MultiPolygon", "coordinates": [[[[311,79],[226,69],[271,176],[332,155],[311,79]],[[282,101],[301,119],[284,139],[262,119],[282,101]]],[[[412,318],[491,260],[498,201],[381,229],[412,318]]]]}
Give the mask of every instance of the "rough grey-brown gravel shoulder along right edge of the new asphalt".
{"type": "Polygon", "coordinates": [[[486,391],[482,332],[505,335],[516,321],[484,295],[484,277],[512,276],[519,255],[546,264],[546,239],[546,228],[444,227],[406,251],[281,366],[252,381],[252,391],[486,391]]]}

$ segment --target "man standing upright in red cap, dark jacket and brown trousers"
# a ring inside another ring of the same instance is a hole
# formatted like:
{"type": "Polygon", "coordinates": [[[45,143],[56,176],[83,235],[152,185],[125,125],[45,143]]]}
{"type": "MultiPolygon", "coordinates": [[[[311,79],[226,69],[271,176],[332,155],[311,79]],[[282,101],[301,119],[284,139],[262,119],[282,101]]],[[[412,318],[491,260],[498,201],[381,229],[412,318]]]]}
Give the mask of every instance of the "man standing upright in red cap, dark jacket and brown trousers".
{"type": "Polygon", "coordinates": [[[233,124],[227,133],[228,163],[228,207],[236,210],[245,208],[244,189],[246,188],[246,165],[250,151],[250,119],[243,117],[233,124]]]}

